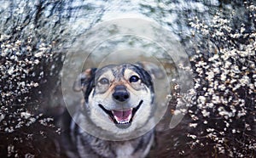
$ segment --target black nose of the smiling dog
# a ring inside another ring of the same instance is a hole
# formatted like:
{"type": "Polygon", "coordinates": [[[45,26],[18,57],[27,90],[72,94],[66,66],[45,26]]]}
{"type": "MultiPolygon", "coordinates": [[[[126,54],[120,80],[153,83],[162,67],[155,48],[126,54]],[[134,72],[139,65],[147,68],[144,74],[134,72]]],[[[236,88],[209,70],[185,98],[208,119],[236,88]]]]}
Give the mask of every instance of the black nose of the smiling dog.
{"type": "Polygon", "coordinates": [[[126,90],[126,87],[123,85],[118,85],[114,87],[113,99],[119,102],[125,102],[130,98],[130,93],[126,90]]]}

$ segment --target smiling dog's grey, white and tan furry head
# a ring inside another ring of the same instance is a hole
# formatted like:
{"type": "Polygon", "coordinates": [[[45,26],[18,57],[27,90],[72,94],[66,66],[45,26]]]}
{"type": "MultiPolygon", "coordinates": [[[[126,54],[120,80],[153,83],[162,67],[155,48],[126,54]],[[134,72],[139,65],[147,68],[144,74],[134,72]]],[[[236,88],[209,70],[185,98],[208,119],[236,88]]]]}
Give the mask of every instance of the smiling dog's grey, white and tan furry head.
{"type": "Polygon", "coordinates": [[[154,109],[154,82],[142,64],[88,69],[79,79],[85,108],[97,127],[122,134],[148,122],[154,109]]]}

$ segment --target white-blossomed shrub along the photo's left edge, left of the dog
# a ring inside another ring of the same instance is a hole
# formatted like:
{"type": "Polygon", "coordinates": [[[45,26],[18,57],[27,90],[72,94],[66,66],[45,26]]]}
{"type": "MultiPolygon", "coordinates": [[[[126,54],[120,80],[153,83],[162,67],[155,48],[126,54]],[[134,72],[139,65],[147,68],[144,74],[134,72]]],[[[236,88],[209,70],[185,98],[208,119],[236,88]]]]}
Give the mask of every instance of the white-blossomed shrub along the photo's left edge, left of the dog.
{"type": "Polygon", "coordinates": [[[36,48],[31,38],[0,42],[1,157],[34,157],[38,155],[35,144],[44,142],[49,130],[55,134],[53,119],[39,113],[42,100],[36,99],[42,94],[38,87],[55,72],[45,69],[45,63],[50,65],[54,59],[51,46],[44,42],[36,48]]]}

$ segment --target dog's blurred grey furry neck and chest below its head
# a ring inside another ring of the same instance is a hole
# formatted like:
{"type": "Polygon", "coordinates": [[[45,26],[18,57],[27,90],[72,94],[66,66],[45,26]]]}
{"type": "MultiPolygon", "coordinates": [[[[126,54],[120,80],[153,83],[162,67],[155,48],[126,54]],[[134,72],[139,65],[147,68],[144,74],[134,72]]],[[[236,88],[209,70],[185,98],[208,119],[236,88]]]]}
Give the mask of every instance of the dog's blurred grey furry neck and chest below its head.
{"type": "MultiPolygon", "coordinates": [[[[90,123],[83,114],[76,116],[76,119],[82,119],[90,123]]],[[[73,127],[73,139],[77,142],[77,150],[81,157],[91,157],[99,155],[100,157],[144,157],[148,154],[151,144],[153,144],[154,130],[145,133],[143,136],[125,141],[110,141],[102,138],[96,138],[89,133],[84,132],[78,125],[73,127]],[[79,133],[79,134],[77,134],[79,133]]]]}

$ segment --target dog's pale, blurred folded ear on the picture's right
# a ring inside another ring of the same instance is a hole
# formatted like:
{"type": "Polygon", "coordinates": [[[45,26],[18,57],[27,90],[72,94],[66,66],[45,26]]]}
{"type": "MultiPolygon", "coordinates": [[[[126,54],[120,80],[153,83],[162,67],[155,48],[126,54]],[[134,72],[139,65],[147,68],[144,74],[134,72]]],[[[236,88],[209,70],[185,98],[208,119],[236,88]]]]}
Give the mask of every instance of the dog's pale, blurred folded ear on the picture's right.
{"type": "Polygon", "coordinates": [[[143,69],[147,71],[153,79],[162,79],[165,76],[164,71],[162,71],[160,67],[154,63],[148,61],[140,61],[137,62],[137,65],[143,67],[143,69]]]}

